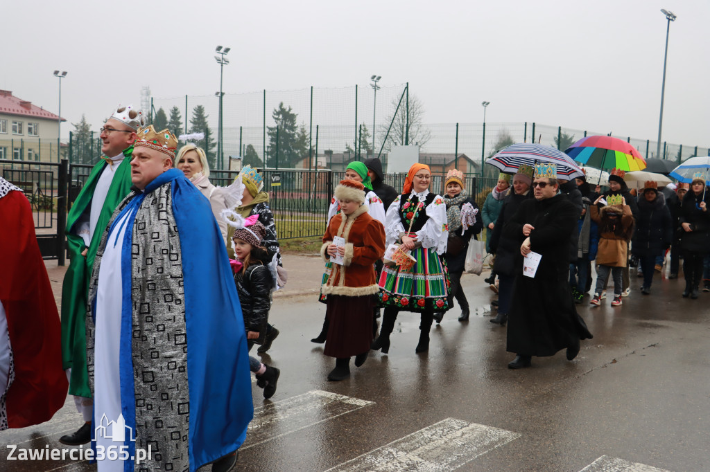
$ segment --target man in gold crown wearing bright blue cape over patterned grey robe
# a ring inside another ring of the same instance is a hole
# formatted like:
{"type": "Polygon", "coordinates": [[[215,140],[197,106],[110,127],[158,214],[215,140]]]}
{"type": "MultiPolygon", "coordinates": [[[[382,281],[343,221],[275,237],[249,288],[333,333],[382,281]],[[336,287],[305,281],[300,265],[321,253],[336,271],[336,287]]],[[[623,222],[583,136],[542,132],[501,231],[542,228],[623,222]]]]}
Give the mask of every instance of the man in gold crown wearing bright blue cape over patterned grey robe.
{"type": "MultiPolygon", "coordinates": [[[[227,471],[253,405],[222,232],[209,201],[172,169],[175,136],[152,125],[137,135],[133,187],[102,234],[89,285],[97,454],[116,447],[116,431],[102,434],[114,423],[131,428],[118,444],[129,458],[151,447],[146,470],[195,471],[217,461],[212,470],[227,471]]],[[[109,457],[99,472],[133,470],[133,459],[109,457]]]]}

